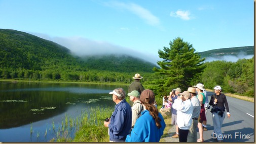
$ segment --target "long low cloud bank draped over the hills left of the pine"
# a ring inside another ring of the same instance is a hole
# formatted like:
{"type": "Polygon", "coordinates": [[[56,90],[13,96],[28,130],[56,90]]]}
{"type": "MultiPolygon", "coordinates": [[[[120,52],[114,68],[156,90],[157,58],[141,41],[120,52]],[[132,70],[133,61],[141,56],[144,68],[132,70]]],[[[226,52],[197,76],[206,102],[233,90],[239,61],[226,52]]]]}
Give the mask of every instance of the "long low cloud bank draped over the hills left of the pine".
{"type": "Polygon", "coordinates": [[[126,54],[133,57],[141,58],[157,64],[160,58],[152,53],[142,53],[131,48],[115,45],[105,41],[90,40],[83,37],[50,37],[46,34],[31,33],[43,39],[47,39],[68,48],[72,53],[78,56],[89,55],[107,55],[107,54],[126,54]]]}

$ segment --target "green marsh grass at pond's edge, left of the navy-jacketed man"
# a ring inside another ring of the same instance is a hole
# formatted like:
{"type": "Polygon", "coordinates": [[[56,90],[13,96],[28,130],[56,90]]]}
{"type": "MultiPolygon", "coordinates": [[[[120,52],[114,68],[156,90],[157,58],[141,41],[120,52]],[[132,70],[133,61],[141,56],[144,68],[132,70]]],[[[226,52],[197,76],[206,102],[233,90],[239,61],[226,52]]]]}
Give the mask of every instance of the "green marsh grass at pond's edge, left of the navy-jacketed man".
{"type": "MultiPolygon", "coordinates": [[[[50,142],[108,142],[108,129],[104,127],[103,122],[113,111],[114,107],[94,106],[81,110],[81,114],[75,118],[65,114],[60,124],[55,125],[52,121],[49,132],[46,127],[44,136],[53,135],[50,142]]],[[[32,132],[31,124],[30,134],[32,132]]],[[[39,136],[37,132],[36,137],[39,136]]]]}

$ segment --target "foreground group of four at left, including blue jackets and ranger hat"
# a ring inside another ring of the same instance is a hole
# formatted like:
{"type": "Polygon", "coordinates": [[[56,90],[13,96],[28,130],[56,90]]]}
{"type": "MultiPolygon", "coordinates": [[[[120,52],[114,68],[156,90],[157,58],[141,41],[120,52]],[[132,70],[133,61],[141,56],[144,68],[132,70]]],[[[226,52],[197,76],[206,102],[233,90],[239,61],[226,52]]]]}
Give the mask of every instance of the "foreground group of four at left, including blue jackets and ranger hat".
{"type": "Polygon", "coordinates": [[[155,94],[145,90],[139,74],[133,77],[129,85],[128,96],[133,102],[131,107],[125,100],[125,91],[117,88],[110,92],[116,103],[115,110],[109,121],[104,121],[108,127],[110,142],[159,142],[163,135],[165,122],[155,106],[155,94]]]}

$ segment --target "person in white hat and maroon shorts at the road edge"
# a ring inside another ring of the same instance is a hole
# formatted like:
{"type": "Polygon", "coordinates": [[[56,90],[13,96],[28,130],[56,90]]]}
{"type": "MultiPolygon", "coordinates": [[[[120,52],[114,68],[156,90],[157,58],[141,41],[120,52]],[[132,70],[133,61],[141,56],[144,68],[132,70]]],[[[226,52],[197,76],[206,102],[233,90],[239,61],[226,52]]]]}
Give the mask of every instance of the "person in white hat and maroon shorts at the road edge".
{"type": "Polygon", "coordinates": [[[199,131],[199,139],[197,139],[197,142],[203,142],[204,141],[204,138],[203,138],[203,121],[206,120],[206,116],[205,116],[205,109],[204,109],[204,104],[205,104],[205,95],[203,93],[203,85],[202,84],[197,84],[196,86],[194,86],[194,88],[196,88],[196,91],[197,91],[197,98],[200,102],[200,106],[201,106],[201,109],[200,109],[200,115],[199,115],[199,118],[198,118],[198,131],[199,131]]]}

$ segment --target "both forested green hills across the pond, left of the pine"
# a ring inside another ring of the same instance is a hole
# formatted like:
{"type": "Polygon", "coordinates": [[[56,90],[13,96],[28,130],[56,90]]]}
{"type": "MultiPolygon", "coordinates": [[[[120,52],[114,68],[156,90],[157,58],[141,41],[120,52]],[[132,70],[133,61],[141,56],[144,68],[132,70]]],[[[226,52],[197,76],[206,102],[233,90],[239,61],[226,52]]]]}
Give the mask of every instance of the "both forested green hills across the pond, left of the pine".
{"type": "Polygon", "coordinates": [[[0,68],[56,71],[107,70],[153,73],[153,63],[131,56],[77,57],[64,46],[16,30],[0,29],[0,68]]]}

